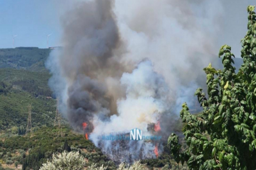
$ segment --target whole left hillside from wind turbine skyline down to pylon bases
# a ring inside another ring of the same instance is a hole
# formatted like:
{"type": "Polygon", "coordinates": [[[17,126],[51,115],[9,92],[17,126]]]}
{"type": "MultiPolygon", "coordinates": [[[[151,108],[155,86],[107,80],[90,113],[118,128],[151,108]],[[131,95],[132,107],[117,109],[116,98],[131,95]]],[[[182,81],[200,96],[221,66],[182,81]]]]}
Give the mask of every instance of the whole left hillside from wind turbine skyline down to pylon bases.
{"type": "Polygon", "coordinates": [[[51,75],[44,66],[50,51],[33,47],[0,49],[0,132],[26,127],[29,104],[34,127],[52,124],[56,101],[49,98],[51,75]]]}

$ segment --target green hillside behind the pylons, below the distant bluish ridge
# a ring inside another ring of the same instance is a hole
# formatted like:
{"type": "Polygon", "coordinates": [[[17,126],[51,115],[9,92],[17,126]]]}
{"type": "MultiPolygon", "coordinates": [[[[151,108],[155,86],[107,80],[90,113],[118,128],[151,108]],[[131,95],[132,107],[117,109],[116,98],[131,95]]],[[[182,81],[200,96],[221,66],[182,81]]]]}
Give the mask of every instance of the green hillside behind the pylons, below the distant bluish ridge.
{"type": "Polygon", "coordinates": [[[29,104],[35,129],[52,125],[56,101],[47,86],[49,77],[47,72],[0,69],[0,132],[24,134],[29,104]]]}

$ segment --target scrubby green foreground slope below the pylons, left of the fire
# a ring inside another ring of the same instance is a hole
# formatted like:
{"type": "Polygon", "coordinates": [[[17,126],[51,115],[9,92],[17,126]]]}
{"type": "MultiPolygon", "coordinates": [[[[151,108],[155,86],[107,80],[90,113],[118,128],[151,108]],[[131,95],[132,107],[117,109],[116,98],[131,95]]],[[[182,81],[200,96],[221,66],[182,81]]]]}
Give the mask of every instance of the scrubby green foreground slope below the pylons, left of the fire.
{"type": "Polygon", "coordinates": [[[69,127],[63,127],[62,132],[61,137],[57,127],[42,127],[32,136],[11,136],[0,139],[1,164],[19,162],[22,164],[22,169],[31,167],[35,170],[40,169],[47,160],[52,162],[53,153],[59,155],[65,151],[67,147],[65,145],[68,145],[71,152],[79,152],[84,157],[86,166],[97,164],[97,166],[108,166],[108,169],[116,168],[115,164],[83,135],[74,134],[69,127]]]}

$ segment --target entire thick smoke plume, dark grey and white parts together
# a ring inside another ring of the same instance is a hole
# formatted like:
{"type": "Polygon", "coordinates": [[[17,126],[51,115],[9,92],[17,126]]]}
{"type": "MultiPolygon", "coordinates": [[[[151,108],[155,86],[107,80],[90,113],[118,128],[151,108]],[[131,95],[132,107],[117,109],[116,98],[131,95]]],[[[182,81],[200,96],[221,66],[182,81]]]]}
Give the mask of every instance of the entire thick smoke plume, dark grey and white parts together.
{"type": "MultiPolygon", "coordinates": [[[[108,153],[121,145],[102,141],[102,134],[138,128],[149,135],[150,124],[160,121],[161,135],[168,136],[180,104],[193,106],[205,81],[221,13],[218,0],[77,2],[61,18],[63,50],[47,60],[62,113],[77,131],[86,122],[90,139],[108,153]]],[[[125,145],[120,160],[126,152],[131,160],[154,155],[153,143],[125,145]]]]}

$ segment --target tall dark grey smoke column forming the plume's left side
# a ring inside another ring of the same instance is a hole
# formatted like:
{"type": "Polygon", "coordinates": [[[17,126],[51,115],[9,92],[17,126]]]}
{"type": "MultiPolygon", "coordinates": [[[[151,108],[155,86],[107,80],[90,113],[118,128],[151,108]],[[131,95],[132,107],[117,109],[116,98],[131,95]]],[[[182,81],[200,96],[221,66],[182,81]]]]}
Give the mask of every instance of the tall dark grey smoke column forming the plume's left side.
{"type": "Polygon", "coordinates": [[[103,85],[106,75],[122,73],[122,66],[113,59],[113,50],[120,45],[120,39],[112,6],[109,0],[80,2],[61,18],[65,48],[61,52],[60,69],[69,84],[67,117],[76,129],[86,122],[92,132],[94,114],[104,120],[111,108],[116,113],[115,107],[111,107],[116,102],[103,85]]]}

